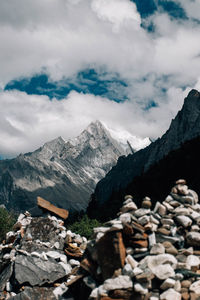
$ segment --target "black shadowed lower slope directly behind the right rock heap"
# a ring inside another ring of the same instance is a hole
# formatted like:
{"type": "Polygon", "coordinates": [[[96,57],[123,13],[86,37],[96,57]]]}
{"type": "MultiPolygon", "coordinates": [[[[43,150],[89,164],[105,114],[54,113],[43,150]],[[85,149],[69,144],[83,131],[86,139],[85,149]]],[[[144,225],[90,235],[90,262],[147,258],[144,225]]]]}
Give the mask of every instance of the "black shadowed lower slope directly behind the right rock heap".
{"type": "Polygon", "coordinates": [[[141,200],[148,196],[153,206],[162,202],[168,195],[177,178],[184,178],[187,184],[200,194],[200,136],[186,141],[179,149],[171,151],[146,172],[136,176],[124,188],[113,191],[103,205],[91,201],[87,210],[90,217],[101,221],[113,218],[119,211],[125,195],[133,195],[134,202],[140,207],[141,200]]]}

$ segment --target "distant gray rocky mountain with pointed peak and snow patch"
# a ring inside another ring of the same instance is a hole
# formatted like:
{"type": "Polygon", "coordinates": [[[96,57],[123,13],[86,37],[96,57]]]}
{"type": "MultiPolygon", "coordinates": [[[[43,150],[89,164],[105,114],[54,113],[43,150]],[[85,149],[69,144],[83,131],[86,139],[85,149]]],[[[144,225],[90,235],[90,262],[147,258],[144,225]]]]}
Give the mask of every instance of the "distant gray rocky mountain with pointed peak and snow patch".
{"type": "MultiPolygon", "coordinates": [[[[136,139],[132,147],[148,143],[136,139]]],[[[23,211],[41,196],[70,211],[85,210],[97,182],[130,151],[101,122],[91,123],[77,138],[58,137],[32,153],[0,161],[0,204],[23,211]]]]}

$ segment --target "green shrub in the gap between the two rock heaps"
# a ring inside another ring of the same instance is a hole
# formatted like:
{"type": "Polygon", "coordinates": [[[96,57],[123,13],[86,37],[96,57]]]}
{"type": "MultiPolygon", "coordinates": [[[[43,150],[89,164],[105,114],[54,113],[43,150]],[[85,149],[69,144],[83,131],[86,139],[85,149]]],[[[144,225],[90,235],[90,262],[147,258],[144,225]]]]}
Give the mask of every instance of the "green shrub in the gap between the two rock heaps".
{"type": "Polygon", "coordinates": [[[101,226],[101,223],[96,219],[89,219],[87,215],[79,217],[77,221],[67,226],[67,229],[74,233],[85,236],[91,239],[93,235],[93,228],[101,226]]]}

